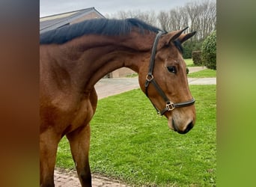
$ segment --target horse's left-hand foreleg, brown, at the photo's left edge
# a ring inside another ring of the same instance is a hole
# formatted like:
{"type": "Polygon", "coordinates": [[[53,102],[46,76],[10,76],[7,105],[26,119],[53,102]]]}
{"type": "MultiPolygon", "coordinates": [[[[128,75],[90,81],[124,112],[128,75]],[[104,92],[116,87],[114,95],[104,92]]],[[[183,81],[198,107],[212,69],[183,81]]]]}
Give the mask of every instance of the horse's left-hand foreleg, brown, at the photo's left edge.
{"type": "Polygon", "coordinates": [[[40,187],[54,186],[54,168],[58,138],[51,130],[40,134],[40,187]]]}

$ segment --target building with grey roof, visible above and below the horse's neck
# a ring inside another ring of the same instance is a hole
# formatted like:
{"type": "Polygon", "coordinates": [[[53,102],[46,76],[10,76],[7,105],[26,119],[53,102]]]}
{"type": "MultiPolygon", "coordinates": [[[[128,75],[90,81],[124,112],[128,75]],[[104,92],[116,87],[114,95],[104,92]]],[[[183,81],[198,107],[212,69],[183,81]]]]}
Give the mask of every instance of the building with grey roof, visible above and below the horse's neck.
{"type": "MultiPolygon", "coordinates": [[[[61,28],[65,25],[72,25],[76,22],[82,22],[86,19],[105,18],[94,7],[85,8],[82,10],[75,10],[67,13],[58,13],[52,16],[40,17],[40,34],[55,28],[61,28]]],[[[106,78],[125,77],[135,73],[127,67],[115,70],[109,73],[106,78]]]]}

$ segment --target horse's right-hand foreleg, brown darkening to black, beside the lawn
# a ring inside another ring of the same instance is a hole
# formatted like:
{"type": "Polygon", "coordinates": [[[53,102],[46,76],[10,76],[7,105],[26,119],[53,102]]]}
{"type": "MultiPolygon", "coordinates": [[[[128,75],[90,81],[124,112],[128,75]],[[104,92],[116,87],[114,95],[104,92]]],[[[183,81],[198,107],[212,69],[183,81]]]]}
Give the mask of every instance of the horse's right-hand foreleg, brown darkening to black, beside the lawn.
{"type": "Polygon", "coordinates": [[[67,139],[70,141],[73,160],[76,165],[76,171],[82,187],[91,187],[91,170],[88,158],[90,135],[91,131],[89,124],[67,134],[67,139]]]}

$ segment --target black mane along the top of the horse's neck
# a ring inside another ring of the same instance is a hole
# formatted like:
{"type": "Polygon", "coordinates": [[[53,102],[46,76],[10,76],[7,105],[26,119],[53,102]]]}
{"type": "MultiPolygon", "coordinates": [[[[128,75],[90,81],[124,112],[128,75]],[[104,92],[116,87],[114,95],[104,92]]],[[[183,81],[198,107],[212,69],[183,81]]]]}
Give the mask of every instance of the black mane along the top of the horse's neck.
{"type": "Polygon", "coordinates": [[[40,34],[40,44],[61,44],[84,34],[102,34],[109,36],[129,34],[133,27],[138,28],[141,34],[143,34],[144,31],[153,31],[155,33],[161,31],[159,28],[153,27],[152,25],[148,25],[147,23],[134,18],[123,20],[89,19],[84,22],[67,25],[62,28],[57,28],[40,34]]]}

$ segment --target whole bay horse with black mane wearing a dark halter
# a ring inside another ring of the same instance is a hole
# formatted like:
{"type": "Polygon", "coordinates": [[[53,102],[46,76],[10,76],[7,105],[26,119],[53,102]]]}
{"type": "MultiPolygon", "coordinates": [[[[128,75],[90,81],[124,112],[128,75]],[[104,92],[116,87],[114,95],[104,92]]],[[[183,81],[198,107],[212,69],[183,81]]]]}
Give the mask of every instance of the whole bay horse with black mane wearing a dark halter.
{"type": "Polygon", "coordinates": [[[54,186],[58,143],[66,135],[82,186],[91,186],[90,120],[94,85],[129,67],[169,128],[184,134],[195,124],[195,99],[182,43],[195,32],[166,32],[138,19],[91,19],[40,34],[40,186],[54,186]]]}

